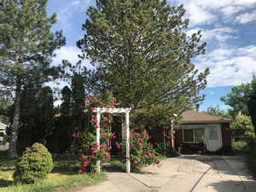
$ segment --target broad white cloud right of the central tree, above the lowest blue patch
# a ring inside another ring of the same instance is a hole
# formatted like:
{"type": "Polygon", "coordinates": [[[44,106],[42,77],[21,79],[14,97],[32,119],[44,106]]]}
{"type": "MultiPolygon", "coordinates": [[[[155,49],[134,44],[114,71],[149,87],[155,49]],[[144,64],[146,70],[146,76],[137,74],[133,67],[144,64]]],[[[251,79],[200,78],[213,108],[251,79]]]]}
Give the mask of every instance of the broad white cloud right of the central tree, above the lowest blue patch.
{"type": "Polygon", "coordinates": [[[250,82],[253,72],[256,72],[256,56],[253,51],[256,45],[239,49],[215,49],[207,55],[198,58],[197,67],[200,70],[209,67],[208,86],[233,86],[250,82]]]}

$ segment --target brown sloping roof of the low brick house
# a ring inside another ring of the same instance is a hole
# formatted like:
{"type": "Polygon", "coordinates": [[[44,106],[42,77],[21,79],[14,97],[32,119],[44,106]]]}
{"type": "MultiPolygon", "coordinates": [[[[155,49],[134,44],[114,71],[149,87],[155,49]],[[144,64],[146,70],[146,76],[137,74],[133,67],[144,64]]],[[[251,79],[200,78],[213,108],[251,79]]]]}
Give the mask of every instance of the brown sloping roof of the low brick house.
{"type": "Polygon", "coordinates": [[[208,113],[197,112],[193,110],[185,111],[182,113],[183,124],[195,123],[230,123],[231,119],[215,116],[208,113]]]}

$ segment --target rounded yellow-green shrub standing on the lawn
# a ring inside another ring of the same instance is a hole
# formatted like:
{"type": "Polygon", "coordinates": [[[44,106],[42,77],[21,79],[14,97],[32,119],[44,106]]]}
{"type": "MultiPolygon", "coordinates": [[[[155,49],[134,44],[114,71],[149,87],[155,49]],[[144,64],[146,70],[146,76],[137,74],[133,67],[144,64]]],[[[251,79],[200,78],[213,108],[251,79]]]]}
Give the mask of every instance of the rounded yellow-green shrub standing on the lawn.
{"type": "Polygon", "coordinates": [[[43,144],[34,143],[26,148],[17,161],[14,179],[15,183],[35,183],[47,176],[54,167],[51,154],[43,144]]]}

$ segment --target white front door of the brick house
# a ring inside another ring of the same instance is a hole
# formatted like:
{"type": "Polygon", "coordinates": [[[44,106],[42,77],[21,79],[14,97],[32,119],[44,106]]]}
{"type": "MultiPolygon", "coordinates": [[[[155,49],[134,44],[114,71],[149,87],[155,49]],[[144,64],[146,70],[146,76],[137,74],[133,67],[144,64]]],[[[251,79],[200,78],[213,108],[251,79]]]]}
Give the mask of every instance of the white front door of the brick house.
{"type": "Polygon", "coordinates": [[[217,151],[222,148],[222,136],[219,124],[209,124],[205,127],[206,144],[208,151],[217,151]]]}

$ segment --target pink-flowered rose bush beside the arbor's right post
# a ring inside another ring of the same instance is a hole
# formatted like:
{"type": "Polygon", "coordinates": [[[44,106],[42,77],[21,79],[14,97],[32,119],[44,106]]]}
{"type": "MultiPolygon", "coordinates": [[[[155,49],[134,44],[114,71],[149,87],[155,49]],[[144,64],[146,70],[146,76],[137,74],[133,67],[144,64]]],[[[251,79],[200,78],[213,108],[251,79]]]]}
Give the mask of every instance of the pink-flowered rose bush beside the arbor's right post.
{"type": "MultiPolygon", "coordinates": [[[[137,132],[131,130],[130,132],[130,160],[131,169],[139,170],[143,166],[152,164],[160,164],[157,153],[154,151],[151,143],[148,142],[148,132],[137,132]]],[[[119,146],[119,143],[116,143],[119,146]]],[[[123,155],[125,156],[125,143],[121,143],[123,155]]]]}

